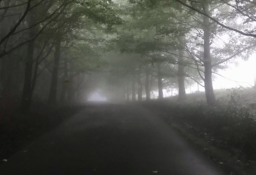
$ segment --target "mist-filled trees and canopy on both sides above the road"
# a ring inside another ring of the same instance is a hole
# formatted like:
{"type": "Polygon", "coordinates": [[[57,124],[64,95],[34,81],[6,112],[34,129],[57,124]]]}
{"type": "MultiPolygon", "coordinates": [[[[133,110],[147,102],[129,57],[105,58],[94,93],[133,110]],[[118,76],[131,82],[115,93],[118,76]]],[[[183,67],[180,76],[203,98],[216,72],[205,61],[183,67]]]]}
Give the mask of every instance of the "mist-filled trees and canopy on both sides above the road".
{"type": "MultiPolygon", "coordinates": [[[[0,92],[14,103],[163,99],[205,88],[220,69],[255,50],[255,2],[109,0],[0,2],[0,92]]],[[[2,102],[3,103],[3,102],[2,102]]]]}

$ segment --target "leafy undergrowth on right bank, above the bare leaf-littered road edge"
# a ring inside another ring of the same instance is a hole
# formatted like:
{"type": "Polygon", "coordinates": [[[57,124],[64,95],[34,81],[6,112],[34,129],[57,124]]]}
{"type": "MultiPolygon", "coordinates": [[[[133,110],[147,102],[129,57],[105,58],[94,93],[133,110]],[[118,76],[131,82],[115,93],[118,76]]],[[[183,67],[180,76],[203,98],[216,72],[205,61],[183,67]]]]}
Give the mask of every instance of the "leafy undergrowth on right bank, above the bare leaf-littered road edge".
{"type": "Polygon", "coordinates": [[[219,98],[216,106],[207,105],[205,100],[152,100],[144,105],[165,111],[178,121],[189,123],[201,133],[207,133],[207,137],[218,139],[218,145],[215,146],[240,149],[248,159],[256,160],[256,117],[240,103],[239,89],[229,91],[229,99],[219,98]]]}

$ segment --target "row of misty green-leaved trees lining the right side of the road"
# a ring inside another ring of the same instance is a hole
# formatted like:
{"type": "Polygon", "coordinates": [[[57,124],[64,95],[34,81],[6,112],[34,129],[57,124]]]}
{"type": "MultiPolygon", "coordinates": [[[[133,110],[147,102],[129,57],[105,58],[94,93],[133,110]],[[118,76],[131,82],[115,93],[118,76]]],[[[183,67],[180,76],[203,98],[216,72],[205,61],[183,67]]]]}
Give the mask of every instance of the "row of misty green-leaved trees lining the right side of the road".
{"type": "MultiPolygon", "coordinates": [[[[140,80],[134,80],[133,74],[139,72],[140,76],[141,71],[144,72],[145,91],[149,89],[146,72],[151,67],[158,81],[159,99],[163,98],[162,87],[166,79],[167,89],[178,86],[180,100],[186,98],[186,84],[193,80],[205,88],[207,103],[216,105],[212,80],[218,70],[227,68],[237,57],[247,60],[254,53],[255,2],[128,2],[128,22],[119,29],[116,47],[121,53],[140,55],[136,59],[140,63],[131,61],[135,65],[126,66],[126,69],[131,74],[128,76],[138,84],[140,80]],[[139,64],[144,67],[138,67],[139,64]]],[[[130,92],[134,97],[134,85],[131,84],[130,92]]],[[[141,96],[139,91],[136,92],[141,96]]],[[[128,96],[127,90],[127,99],[128,96]]]]}

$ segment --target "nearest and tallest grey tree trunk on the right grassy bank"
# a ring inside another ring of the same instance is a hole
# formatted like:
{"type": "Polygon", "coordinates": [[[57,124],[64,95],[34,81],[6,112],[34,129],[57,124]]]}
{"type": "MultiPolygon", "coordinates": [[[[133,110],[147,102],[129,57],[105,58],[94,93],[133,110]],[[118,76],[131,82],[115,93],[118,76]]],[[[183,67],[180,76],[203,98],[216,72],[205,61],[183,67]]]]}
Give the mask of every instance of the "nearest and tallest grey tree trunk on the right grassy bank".
{"type": "MultiPolygon", "coordinates": [[[[209,2],[204,3],[205,13],[209,14],[209,2]]],[[[204,67],[205,67],[205,96],[206,101],[210,105],[216,105],[216,99],[212,87],[212,65],[210,54],[210,21],[208,17],[204,18],[204,67]]]]}

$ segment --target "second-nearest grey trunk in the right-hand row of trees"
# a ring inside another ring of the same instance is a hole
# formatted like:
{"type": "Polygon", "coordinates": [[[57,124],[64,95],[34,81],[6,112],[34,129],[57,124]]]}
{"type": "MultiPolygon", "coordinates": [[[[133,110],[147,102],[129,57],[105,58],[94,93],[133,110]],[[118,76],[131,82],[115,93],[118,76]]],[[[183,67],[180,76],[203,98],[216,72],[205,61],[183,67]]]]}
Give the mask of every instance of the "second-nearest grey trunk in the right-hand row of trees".
{"type": "Polygon", "coordinates": [[[185,74],[184,74],[184,64],[183,64],[183,50],[179,50],[178,57],[178,86],[179,86],[179,100],[186,99],[186,90],[185,90],[185,74]]]}

